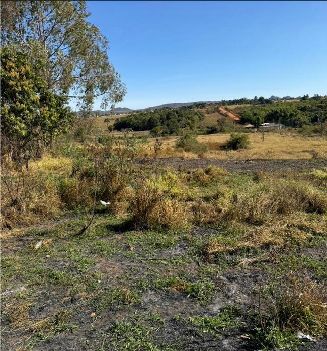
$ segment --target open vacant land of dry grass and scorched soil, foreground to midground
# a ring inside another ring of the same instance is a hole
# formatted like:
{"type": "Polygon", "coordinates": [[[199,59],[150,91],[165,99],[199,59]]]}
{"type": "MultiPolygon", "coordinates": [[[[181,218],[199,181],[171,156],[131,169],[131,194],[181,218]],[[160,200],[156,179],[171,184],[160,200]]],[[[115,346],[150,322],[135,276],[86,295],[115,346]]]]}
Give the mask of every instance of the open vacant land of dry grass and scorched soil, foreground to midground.
{"type": "Polygon", "coordinates": [[[161,159],[140,161],[142,144],[69,142],[31,162],[21,209],[2,213],[2,349],[302,349],[296,331],[316,340],[303,349],[323,349],[326,162],[301,157],[326,142],[270,137],[298,153],[171,159],[169,138],[161,159]],[[98,200],[111,204],[82,232],[102,150],[98,200]]]}

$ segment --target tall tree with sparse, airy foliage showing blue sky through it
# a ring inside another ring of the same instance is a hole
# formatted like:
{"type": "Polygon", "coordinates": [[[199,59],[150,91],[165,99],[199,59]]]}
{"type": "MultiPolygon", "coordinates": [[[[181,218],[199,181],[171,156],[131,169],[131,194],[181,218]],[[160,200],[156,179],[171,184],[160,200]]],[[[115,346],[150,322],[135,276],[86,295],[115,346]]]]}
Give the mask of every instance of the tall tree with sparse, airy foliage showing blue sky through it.
{"type": "Polygon", "coordinates": [[[76,98],[83,109],[100,96],[102,107],[113,106],[126,92],[109,62],[108,41],[87,21],[89,15],[82,0],[1,2],[2,42],[42,58],[46,87],[76,98]]]}

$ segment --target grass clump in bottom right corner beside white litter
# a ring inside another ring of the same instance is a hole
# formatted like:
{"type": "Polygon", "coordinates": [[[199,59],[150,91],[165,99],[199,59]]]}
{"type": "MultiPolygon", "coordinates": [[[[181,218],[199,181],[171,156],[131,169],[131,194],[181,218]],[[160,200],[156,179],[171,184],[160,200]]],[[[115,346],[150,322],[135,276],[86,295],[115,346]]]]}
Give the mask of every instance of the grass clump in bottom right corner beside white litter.
{"type": "MultiPolygon", "coordinates": [[[[272,279],[272,278],[271,278],[272,279]]],[[[260,349],[296,347],[295,332],[312,337],[327,334],[325,287],[299,273],[287,271],[261,291],[255,307],[252,343],[260,349]]]]}

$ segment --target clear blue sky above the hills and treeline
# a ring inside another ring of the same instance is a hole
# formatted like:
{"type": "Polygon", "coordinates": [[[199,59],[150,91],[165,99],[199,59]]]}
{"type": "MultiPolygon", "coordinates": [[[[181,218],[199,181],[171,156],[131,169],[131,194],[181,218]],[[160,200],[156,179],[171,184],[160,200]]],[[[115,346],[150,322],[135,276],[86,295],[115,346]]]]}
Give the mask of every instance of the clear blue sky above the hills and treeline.
{"type": "Polygon", "coordinates": [[[117,106],[327,94],[326,1],[87,4],[127,87],[117,106]]]}

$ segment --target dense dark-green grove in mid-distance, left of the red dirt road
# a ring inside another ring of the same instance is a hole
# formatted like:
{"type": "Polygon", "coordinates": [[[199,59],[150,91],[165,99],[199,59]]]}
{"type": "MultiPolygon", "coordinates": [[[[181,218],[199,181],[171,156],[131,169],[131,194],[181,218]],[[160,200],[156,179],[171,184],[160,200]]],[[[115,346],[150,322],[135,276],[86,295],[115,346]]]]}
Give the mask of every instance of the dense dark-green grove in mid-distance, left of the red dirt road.
{"type": "Polygon", "coordinates": [[[203,118],[202,113],[187,108],[162,109],[119,118],[114,123],[114,129],[151,130],[154,136],[158,133],[172,135],[178,134],[181,128],[195,127],[203,118]]]}

